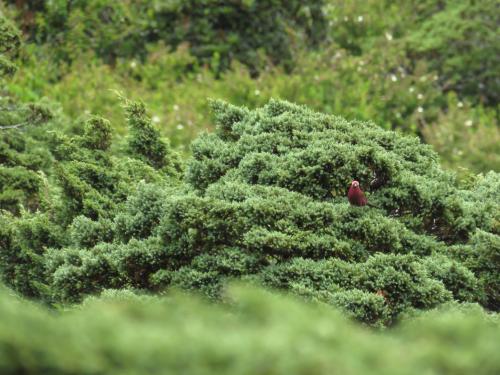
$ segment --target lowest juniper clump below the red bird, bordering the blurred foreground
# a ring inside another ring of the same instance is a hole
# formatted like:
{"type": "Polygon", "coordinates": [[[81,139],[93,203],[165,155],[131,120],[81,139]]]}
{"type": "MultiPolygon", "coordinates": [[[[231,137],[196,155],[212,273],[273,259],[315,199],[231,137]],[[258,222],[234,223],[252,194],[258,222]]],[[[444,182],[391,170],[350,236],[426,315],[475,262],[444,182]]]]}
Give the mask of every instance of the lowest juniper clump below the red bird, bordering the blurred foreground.
{"type": "MultiPolygon", "coordinates": [[[[451,293],[430,272],[428,263],[411,255],[386,254],[376,254],[364,263],[295,258],[268,267],[262,272],[262,280],[274,288],[296,290],[300,286],[316,291],[309,294],[347,310],[361,321],[387,324],[410,307],[430,308],[451,300],[451,293]]],[[[474,276],[467,276],[458,275],[457,280],[474,286],[474,276]]]]}

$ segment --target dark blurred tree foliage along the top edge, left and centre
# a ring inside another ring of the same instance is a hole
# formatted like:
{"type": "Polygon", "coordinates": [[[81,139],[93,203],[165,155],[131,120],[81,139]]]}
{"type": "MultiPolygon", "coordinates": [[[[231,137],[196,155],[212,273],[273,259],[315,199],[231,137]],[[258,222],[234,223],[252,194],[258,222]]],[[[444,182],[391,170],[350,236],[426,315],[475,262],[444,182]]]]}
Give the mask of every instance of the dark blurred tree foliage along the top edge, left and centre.
{"type": "Polygon", "coordinates": [[[216,72],[237,59],[257,74],[266,57],[291,69],[293,39],[317,44],[326,23],[323,0],[12,2],[30,38],[70,63],[81,51],[109,63],[141,58],[148,42],[162,41],[174,49],[188,43],[193,56],[216,72]]]}

